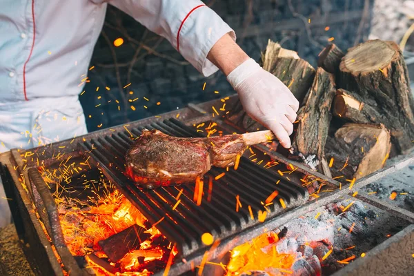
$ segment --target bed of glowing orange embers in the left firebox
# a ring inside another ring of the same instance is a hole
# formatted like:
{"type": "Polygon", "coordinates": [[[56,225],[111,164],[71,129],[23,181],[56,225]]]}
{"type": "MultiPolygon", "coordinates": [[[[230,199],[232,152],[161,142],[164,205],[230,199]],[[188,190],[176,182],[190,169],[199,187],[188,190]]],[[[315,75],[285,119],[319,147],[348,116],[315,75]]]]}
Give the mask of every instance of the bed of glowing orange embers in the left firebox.
{"type": "MultiPolygon", "coordinates": [[[[86,171],[86,167],[90,168],[88,159],[79,164],[75,161],[70,162],[71,157],[61,159],[59,168],[41,167],[39,170],[46,183],[55,190],[53,195],[59,210],[63,237],[72,255],[85,256],[96,275],[114,275],[113,271],[108,271],[108,268],[116,270],[116,275],[119,276],[152,275],[159,270],[164,270],[167,264],[174,263],[177,249],[155,228],[161,220],[151,226],[144,215],[132,206],[99,170],[97,179],[85,180],[83,184],[75,183],[70,186],[72,178],[79,171],[86,171]],[[83,167],[85,170],[82,169],[83,167]],[[75,193],[75,186],[81,187],[77,187],[81,190],[81,196],[67,197],[66,193],[75,193]],[[92,260],[93,255],[95,261],[99,258],[108,259],[100,246],[101,243],[98,242],[106,242],[103,240],[108,237],[112,239],[121,231],[136,225],[144,230],[146,237],[149,237],[138,243],[137,248],[132,248],[129,252],[127,250],[128,253],[117,263],[108,261],[106,268],[92,260]]],[[[82,178],[86,179],[85,175],[81,176],[82,178]]],[[[179,201],[180,199],[177,202],[179,201]]]]}

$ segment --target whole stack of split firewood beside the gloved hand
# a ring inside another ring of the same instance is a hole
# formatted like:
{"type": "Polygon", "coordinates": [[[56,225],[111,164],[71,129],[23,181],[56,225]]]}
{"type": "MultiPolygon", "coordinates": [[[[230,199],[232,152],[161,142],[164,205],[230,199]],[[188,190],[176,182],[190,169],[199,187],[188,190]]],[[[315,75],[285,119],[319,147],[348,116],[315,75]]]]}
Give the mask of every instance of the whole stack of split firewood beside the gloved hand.
{"type": "MultiPolygon", "coordinates": [[[[262,66],[302,103],[292,159],[328,177],[358,179],[413,146],[414,99],[396,43],[366,41],[346,54],[329,44],[317,65],[272,41],[262,55],[262,66]]],[[[263,128],[240,105],[228,119],[246,131],[263,128]]]]}

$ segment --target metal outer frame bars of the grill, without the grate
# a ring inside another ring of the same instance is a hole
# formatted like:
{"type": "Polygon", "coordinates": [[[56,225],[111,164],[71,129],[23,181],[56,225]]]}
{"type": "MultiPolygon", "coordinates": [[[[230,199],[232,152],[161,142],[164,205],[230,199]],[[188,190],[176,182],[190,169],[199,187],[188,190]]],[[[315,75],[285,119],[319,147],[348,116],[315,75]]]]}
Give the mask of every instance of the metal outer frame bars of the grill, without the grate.
{"type": "MultiPolygon", "coordinates": [[[[231,102],[237,101],[237,96],[230,97],[230,101],[228,102],[228,106],[230,106],[231,102]]],[[[206,115],[204,113],[200,113],[198,110],[206,110],[208,108],[211,108],[211,106],[220,105],[221,102],[219,100],[210,101],[206,103],[200,103],[197,106],[192,106],[191,108],[183,108],[181,110],[175,110],[172,112],[168,112],[166,114],[162,114],[162,119],[168,119],[168,118],[174,118],[177,117],[177,114],[180,114],[180,118],[186,121],[186,124],[199,124],[202,121],[207,121],[210,119],[213,119],[211,115],[206,115]],[[197,110],[198,109],[198,110],[197,110]]],[[[190,105],[189,105],[190,106],[190,105]]],[[[159,118],[147,118],[140,121],[136,121],[133,124],[150,124],[154,121],[162,121],[162,119],[159,118]]],[[[217,118],[214,118],[215,121],[217,118]]],[[[221,126],[221,122],[218,123],[221,126]]],[[[124,128],[124,126],[117,126],[115,129],[117,131],[120,131],[124,128]]],[[[99,130],[97,132],[91,132],[88,135],[84,135],[83,137],[77,137],[73,140],[68,141],[61,141],[54,144],[51,144],[50,146],[37,148],[36,150],[44,151],[44,161],[46,166],[48,166],[50,162],[50,158],[53,156],[53,153],[55,150],[59,150],[59,146],[66,146],[65,151],[72,154],[72,155],[78,155],[77,152],[77,143],[83,142],[83,139],[90,139],[93,137],[101,137],[103,135],[108,135],[111,133],[112,130],[106,129],[106,130],[99,130]]],[[[260,148],[260,147],[259,147],[260,148]]],[[[324,175],[321,175],[318,172],[313,172],[308,170],[304,165],[296,162],[286,159],[283,155],[280,155],[278,152],[272,152],[268,150],[268,148],[261,148],[263,152],[266,152],[270,157],[273,157],[275,160],[280,161],[285,164],[293,164],[293,166],[297,167],[297,170],[306,173],[307,175],[313,175],[315,177],[320,177],[326,181],[326,183],[331,187],[337,187],[339,186],[339,182],[335,181],[334,179],[330,179],[328,177],[325,177],[324,175]]],[[[41,221],[37,219],[33,212],[33,195],[30,188],[30,185],[23,186],[23,183],[21,182],[21,177],[25,177],[25,179],[28,179],[28,169],[32,167],[36,167],[37,164],[35,161],[28,160],[27,166],[23,163],[23,160],[21,158],[21,154],[24,154],[26,152],[25,150],[10,150],[10,152],[4,152],[3,154],[0,154],[0,163],[4,165],[3,168],[6,168],[9,173],[4,173],[4,170],[1,173],[1,178],[3,179],[3,183],[8,183],[6,186],[8,189],[6,190],[6,196],[8,198],[12,198],[12,200],[9,201],[10,208],[12,209],[12,215],[14,219],[14,225],[17,228],[17,233],[19,235],[19,238],[23,240],[23,242],[29,244],[30,246],[23,246],[23,251],[25,252],[26,256],[28,257],[28,261],[30,263],[30,266],[34,270],[34,273],[37,275],[63,275],[61,266],[59,262],[57,261],[57,258],[55,257],[52,249],[51,244],[48,241],[48,238],[46,237],[45,233],[43,232],[43,229],[41,227],[41,221]],[[25,188],[26,187],[26,188],[25,188]]],[[[382,170],[378,170],[377,172],[373,172],[371,175],[368,175],[366,177],[363,177],[362,179],[358,179],[354,186],[353,190],[359,190],[360,188],[371,184],[375,181],[378,181],[382,177],[386,177],[386,175],[393,174],[397,172],[398,170],[401,170],[402,168],[413,165],[414,164],[414,157],[406,157],[404,159],[400,159],[395,165],[393,166],[387,166],[386,168],[383,168],[382,170]]],[[[6,187],[5,187],[6,188],[6,187]]],[[[317,201],[309,201],[308,203],[299,206],[295,208],[294,210],[290,210],[279,217],[275,217],[273,219],[268,220],[268,224],[266,227],[264,227],[262,224],[255,226],[251,228],[248,232],[243,233],[242,235],[238,235],[237,239],[233,239],[233,244],[219,244],[217,248],[215,248],[214,251],[209,252],[207,259],[215,259],[217,257],[220,257],[228,252],[228,250],[233,249],[234,246],[237,246],[239,244],[243,244],[244,242],[248,242],[251,238],[257,237],[258,235],[264,233],[265,231],[268,231],[272,228],[277,228],[279,226],[282,226],[286,224],[286,222],[290,221],[291,219],[295,219],[297,217],[300,217],[302,215],[305,215],[308,213],[308,210],[312,210],[315,208],[319,208],[321,206],[325,206],[326,204],[329,204],[333,201],[337,201],[339,198],[344,197],[346,195],[351,195],[352,193],[350,190],[348,190],[348,185],[343,186],[342,190],[336,189],[332,193],[324,193],[317,201]]],[[[359,197],[362,201],[365,201],[367,204],[372,204],[372,198],[367,197],[359,197]]],[[[386,206],[384,204],[384,201],[377,200],[375,202],[375,206],[377,208],[380,208],[386,212],[392,212],[393,215],[396,215],[397,217],[400,217],[401,219],[410,221],[411,224],[414,224],[414,213],[409,212],[408,210],[401,210],[398,208],[393,208],[393,206],[386,206]]],[[[408,226],[410,227],[410,226],[408,226]]],[[[405,235],[408,231],[412,232],[412,228],[406,228],[402,230],[400,233],[401,235],[395,235],[394,237],[400,237],[404,236],[407,237],[406,240],[403,241],[403,244],[406,244],[406,242],[412,242],[412,235],[405,235]]],[[[388,239],[389,241],[390,239],[388,239]]],[[[385,244],[385,242],[383,243],[385,244]]],[[[381,247],[382,244],[377,246],[381,247]]],[[[386,244],[385,246],[386,247],[386,244]]],[[[375,249],[375,248],[374,248],[375,249]]],[[[373,249],[373,250],[374,250],[373,249]]],[[[366,255],[371,255],[370,250],[366,253],[366,255]]],[[[376,255],[378,252],[373,252],[372,255],[376,255]]],[[[198,266],[201,264],[201,260],[203,259],[203,255],[196,255],[192,258],[186,259],[186,262],[177,262],[170,268],[169,275],[181,275],[183,273],[187,273],[191,270],[192,264],[194,266],[198,266]]],[[[365,259],[365,258],[364,258],[365,259]]],[[[411,260],[413,258],[411,257],[411,260]]],[[[358,260],[357,260],[358,261],[358,260]]],[[[377,266],[378,265],[384,265],[384,264],[395,264],[395,260],[392,258],[385,258],[385,259],[378,259],[377,262],[375,261],[375,258],[370,262],[371,265],[377,266]]],[[[350,270],[352,268],[356,269],[359,264],[362,262],[354,262],[352,266],[350,266],[350,270]]],[[[405,271],[401,270],[401,266],[392,266],[395,268],[393,272],[395,274],[404,275],[405,271]]],[[[411,265],[410,267],[413,267],[411,265]]],[[[352,272],[350,270],[339,270],[337,275],[350,275],[352,272]]],[[[367,270],[365,270],[367,271],[367,270]]],[[[162,275],[163,271],[157,273],[156,275],[162,275]]],[[[369,274],[367,274],[369,275],[369,274]]]]}

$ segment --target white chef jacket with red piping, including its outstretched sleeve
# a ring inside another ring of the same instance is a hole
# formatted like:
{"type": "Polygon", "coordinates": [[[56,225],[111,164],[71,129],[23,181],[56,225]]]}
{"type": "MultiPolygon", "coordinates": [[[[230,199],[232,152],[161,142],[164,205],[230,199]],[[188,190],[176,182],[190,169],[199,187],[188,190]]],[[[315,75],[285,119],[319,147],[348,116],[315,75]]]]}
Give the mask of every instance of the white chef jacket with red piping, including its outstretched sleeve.
{"type": "Polygon", "coordinates": [[[218,70],[210,48],[226,33],[235,39],[199,0],[0,0],[0,152],[86,133],[78,95],[107,3],[168,39],[206,77],[218,70]]]}

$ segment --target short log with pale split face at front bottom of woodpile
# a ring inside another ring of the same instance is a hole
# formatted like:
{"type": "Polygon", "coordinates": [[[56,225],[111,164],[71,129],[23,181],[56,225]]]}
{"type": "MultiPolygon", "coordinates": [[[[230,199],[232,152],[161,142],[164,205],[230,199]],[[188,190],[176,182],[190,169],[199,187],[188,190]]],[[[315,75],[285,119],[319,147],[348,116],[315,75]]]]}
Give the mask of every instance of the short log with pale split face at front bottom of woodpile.
{"type": "Polygon", "coordinates": [[[344,176],[338,180],[345,182],[383,168],[390,150],[391,134],[384,125],[349,123],[328,137],[325,155],[333,177],[344,176]]]}

